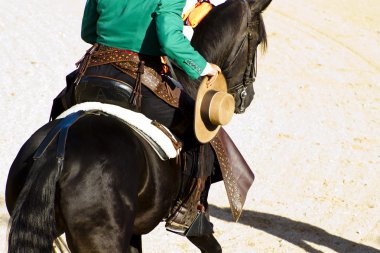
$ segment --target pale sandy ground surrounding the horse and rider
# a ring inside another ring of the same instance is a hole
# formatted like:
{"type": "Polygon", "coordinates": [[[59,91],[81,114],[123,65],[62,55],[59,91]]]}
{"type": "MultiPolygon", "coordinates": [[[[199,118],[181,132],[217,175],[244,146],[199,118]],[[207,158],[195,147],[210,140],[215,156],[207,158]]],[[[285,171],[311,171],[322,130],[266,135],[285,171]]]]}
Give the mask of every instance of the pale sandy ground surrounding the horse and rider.
{"type": "MultiPolygon", "coordinates": [[[[83,5],[1,0],[0,252],[8,169],[87,48],[83,5]]],[[[238,223],[223,184],[210,196],[224,252],[380,252],[379,13],[378,0],[281,0],[264,13],[256,97],[227,127],[256,181],[238,223]]],[[[198,252],[162,226],[143,240],[145,252],[198,252]]]]}

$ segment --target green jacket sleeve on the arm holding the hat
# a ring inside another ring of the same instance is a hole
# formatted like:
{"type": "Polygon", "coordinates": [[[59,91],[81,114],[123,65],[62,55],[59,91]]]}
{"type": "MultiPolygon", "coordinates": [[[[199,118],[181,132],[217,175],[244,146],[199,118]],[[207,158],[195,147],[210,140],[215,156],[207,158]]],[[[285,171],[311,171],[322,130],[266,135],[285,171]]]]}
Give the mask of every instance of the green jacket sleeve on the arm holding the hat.
{"type": "Polygon", "coordinates": [[[161,52],[175,61],[192,79],[200,76],[206,60],[183,35],[182,10],[184,0],[161,0],[156,10],[157,37],[161,52]]]}

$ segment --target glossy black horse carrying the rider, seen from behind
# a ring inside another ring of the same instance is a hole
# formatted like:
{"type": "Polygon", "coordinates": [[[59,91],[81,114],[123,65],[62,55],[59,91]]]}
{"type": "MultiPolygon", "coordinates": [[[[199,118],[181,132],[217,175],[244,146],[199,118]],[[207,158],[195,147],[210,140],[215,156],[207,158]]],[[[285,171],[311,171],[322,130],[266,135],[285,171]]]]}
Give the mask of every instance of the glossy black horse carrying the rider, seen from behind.
{"type": "MultiPolygon", "coordinates": [[[[266,44],[261,12],[270,2],[228,0],[209,13],[192,39],[209,62],[221,66],[236,112],[253,99],[256,48],[266,44]]],[[[174,68],[194,95],[199,81],[174,68]]],[[[102,114],[88,114],[71,126],[64,163],[54,143],[33,159],[57,122],[36,131],[10,168],[9,252],[51,252],[63,232],[72,252],[141,252],[141,235],[162,221],[178,194],[179,165],[174,159],[162,161],[123,122],[102,114]]],[[[193,243],[202,252],[221,252],[207,242],[193,243]]]]}

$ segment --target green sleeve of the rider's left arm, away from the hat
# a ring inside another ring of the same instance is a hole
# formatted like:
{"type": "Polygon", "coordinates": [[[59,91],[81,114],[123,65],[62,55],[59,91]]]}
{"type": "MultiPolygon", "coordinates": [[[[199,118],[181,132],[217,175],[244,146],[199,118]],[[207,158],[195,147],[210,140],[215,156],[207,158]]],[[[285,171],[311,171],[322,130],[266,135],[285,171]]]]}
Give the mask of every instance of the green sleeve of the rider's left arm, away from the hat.
{"type": "Polygon", "coordinates": [[[84,41],[94,44],[97,39],[96,22],[99,14],[97,11],[97,0],[87,0],[84,8],[81,37],[84,41]]]}

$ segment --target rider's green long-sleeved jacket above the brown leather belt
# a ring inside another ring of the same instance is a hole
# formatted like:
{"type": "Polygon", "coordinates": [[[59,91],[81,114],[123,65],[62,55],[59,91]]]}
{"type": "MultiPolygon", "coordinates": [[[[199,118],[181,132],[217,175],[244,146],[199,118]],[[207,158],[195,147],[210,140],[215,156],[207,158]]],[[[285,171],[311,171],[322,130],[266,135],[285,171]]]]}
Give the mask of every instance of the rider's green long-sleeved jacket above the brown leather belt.
{"type": "Polygon", "coordinates": [[[174,60],[192,79],[206,60],[183,35],[185,0],[87,0],[82,39],[174,60]]]}

